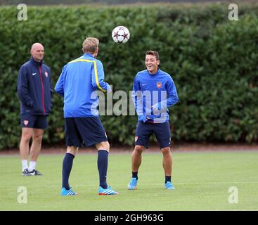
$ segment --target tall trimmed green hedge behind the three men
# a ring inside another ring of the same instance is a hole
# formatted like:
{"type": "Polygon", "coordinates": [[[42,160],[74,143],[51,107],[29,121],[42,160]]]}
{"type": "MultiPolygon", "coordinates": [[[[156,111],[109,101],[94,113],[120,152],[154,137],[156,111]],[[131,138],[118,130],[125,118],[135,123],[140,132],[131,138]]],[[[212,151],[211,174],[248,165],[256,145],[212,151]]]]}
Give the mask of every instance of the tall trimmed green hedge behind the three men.
{"type": "MultiPolygon", "coordinates": [[[[228,20],[226,4],[29,7],[27,21],[17,13],[0,7],[0,149],[20,141],[16,80],[30,46],[44,44],[55,85],[63,65],[81,56],[85,36],[100,39],[99,59],[114,91],[129,93],[146,50],[160,52],[179,94],[169,110],[174,141],[257,142],[257,4],[240,5],[238,21],[228,20]],[[122,46],[110,37],[117,25],[131,32],[122,46]]],[[[53,103],[44,143],[64,143],[63,99],[54,94],[53,103]]],[[[101,119],[110,143],[134,144],[136,116],[101,119]]]]}

